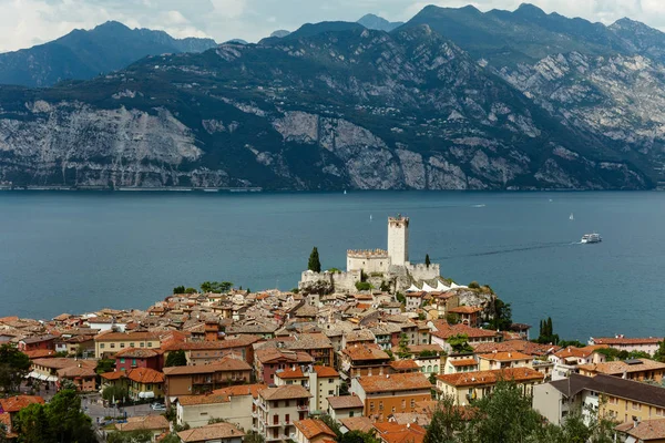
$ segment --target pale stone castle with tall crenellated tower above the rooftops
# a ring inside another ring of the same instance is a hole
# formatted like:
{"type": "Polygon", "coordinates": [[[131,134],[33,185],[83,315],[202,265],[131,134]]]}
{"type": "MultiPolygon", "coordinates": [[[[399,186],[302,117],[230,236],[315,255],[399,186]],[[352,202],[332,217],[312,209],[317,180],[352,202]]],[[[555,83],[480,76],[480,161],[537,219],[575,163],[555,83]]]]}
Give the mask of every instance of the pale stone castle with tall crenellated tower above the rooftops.
{"type": "MultiPolygon", "coordinates": [[[[388,218],[388,250],[369,249],[347,251],[346,272],[303,272],[298,288],[327,289],[337,292],[356,291],[356,284],[364,276],[370,281],[390,285],[403,291],[413,284],[439,279],[438,264],[411,264],[409,261],[409,218],[398,215],[388,218]]],[[[378,288],[377,285],[374,285],[378,288]]]]}

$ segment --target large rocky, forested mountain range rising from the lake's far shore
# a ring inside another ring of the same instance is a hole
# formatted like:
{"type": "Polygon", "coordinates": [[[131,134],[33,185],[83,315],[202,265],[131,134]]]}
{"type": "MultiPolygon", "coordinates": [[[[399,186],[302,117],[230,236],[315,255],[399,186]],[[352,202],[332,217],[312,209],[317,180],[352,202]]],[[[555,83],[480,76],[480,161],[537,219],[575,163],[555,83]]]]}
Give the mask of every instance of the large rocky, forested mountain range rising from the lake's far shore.
{"type": "Polygon", "coordinates": [[[643,189],[663,179],[662,32],[529,4],[427,7],[386,23],[305,24],[257,44],[141,55],[86,81],[0,86],[0,182],[643,189]]]}

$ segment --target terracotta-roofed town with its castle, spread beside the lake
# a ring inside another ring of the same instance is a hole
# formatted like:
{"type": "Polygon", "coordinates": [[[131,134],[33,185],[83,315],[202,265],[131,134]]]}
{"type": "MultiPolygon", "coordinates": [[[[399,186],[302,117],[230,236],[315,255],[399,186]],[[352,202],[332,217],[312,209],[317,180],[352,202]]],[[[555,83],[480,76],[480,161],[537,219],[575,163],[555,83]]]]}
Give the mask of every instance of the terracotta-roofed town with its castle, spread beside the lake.
{"type": "Polygon", "coordinates": [[[315,249],[291,291],[205,282],[145,310],[0,318],[2,370],[11,352],[29,361],[0,377],[4,436],[27,441],[22,411],[75,390],[100,441],[421,443],[443,400],[471,421],[510,383],[543,422],[579,410],[615,441],[665,441],[664,338],[563,342],[551,319],[536,334],[490,287],[424,261],[398,216],[387,250],[323,271],[315,249]]]}

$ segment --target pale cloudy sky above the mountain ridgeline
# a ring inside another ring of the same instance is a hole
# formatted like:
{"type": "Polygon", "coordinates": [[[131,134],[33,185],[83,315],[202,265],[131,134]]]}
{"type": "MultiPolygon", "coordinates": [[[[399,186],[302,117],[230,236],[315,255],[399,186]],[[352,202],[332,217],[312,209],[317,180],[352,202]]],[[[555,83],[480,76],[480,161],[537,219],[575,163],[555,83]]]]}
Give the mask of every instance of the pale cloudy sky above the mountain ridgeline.
{"type": "MultiPolygon", "coordinates": [[[[306,22],[355,21],[374,12],[406,21],[427,4],[514,10],[521,0],[0,0],[0,52],[53,40],[108,20],[174,37],[257,41],[306,22]]],[[[665,0],[532,0],[546,12],[612,23],[623,17],[665,30],[665,0]]]]}

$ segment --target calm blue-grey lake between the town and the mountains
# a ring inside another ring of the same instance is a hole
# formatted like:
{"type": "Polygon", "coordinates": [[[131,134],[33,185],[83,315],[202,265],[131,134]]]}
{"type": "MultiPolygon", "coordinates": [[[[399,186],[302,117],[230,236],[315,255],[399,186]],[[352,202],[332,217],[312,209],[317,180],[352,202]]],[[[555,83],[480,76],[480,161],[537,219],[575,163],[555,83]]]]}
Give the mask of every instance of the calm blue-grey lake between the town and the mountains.
{"type": "Polygon", "coordinates": [[[290,289],[317,246],[385,248],[411,218],[410,258],[489,284],[562,338],[665,333],[665,193],[0,193],[0,317],[142,308],[178,285],[290,289]],[[570,214],[574,220],[570,220],[570,214]],[[372,216],[370,220],[370,215],[372,216]],[[577,244],[598,231],[600,245],[577,244]]]}

